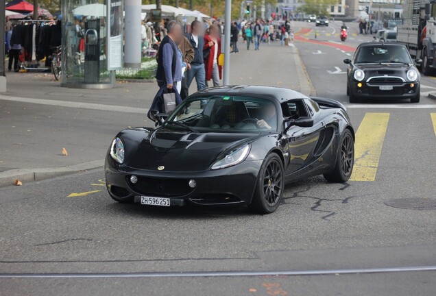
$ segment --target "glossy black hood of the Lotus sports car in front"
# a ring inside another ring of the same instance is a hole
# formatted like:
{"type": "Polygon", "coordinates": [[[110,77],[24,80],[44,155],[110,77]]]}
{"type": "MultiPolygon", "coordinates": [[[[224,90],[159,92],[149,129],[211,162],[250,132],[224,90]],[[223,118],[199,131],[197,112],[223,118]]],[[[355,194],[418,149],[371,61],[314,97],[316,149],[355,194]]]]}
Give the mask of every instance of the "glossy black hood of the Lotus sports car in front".
{"type": "Polygon", "coordinates": [[[124,164],[150,171],[204,171],[230,150],[251,143],[261,134],[181,133],[173,130],[125,130],[124,164]],[[164,167],[164,169],[162,169],[164,167]],[[160,169],[158,169],[160,168],[160,169]]]}

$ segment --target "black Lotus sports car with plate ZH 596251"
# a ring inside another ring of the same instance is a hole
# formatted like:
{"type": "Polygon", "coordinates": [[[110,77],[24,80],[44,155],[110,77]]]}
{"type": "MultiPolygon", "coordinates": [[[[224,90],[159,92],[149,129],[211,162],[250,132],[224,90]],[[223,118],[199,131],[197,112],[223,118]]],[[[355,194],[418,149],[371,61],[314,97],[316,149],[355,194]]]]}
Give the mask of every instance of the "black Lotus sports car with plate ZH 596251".
{"type": "Polygon", "coordinates": [[[354,130],[346,108],[286,88],[199,91],[160,125],[123,130],[106,156],[112,199],[153,206],[248,205],[274,212],[284,184],[324,175],[346,182],[354,130]]]}

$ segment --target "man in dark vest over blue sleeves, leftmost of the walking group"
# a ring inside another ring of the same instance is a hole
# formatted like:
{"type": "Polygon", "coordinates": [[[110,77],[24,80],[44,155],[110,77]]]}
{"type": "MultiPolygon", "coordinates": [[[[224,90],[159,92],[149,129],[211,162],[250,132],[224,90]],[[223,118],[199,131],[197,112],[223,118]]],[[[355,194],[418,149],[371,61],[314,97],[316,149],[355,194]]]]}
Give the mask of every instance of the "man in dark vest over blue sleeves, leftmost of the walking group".
{"type": "Polygon", "coordinates": [[[178,54],[178,44],[182,41],[182,37],[180,23],[170,21],[167,25],[167,36],[162,39],[158,49],[156,80],[160,88],[167,86],[171,90],[182,87],[182,62],[178,54]]]}

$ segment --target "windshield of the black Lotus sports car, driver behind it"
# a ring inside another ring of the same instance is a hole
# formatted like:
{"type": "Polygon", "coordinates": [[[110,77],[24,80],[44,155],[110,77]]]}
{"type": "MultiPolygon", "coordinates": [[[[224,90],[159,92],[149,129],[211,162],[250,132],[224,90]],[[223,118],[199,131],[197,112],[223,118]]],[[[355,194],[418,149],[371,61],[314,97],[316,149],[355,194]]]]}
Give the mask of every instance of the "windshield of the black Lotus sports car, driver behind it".
{"type": "Polygon", "coordinates": [[[276,132],[277,114],[276,105],[268,99],[192,97],[171,113],[164,127],[188,132],[276,132]]]}

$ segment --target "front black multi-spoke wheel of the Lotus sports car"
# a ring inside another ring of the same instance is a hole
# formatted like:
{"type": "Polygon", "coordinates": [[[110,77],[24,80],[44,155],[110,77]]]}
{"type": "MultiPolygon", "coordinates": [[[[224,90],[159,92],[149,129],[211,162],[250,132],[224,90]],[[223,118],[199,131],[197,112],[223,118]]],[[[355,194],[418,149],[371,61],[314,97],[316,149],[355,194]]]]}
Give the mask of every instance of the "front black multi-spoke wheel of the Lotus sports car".
{"type": "Polygon", "coordinates": [[[284,169],[282,160],[271,153],[263,161],[259,171],[250,209],[259,214],[275,212],[280,205],[284,190],[284,169]]]}

